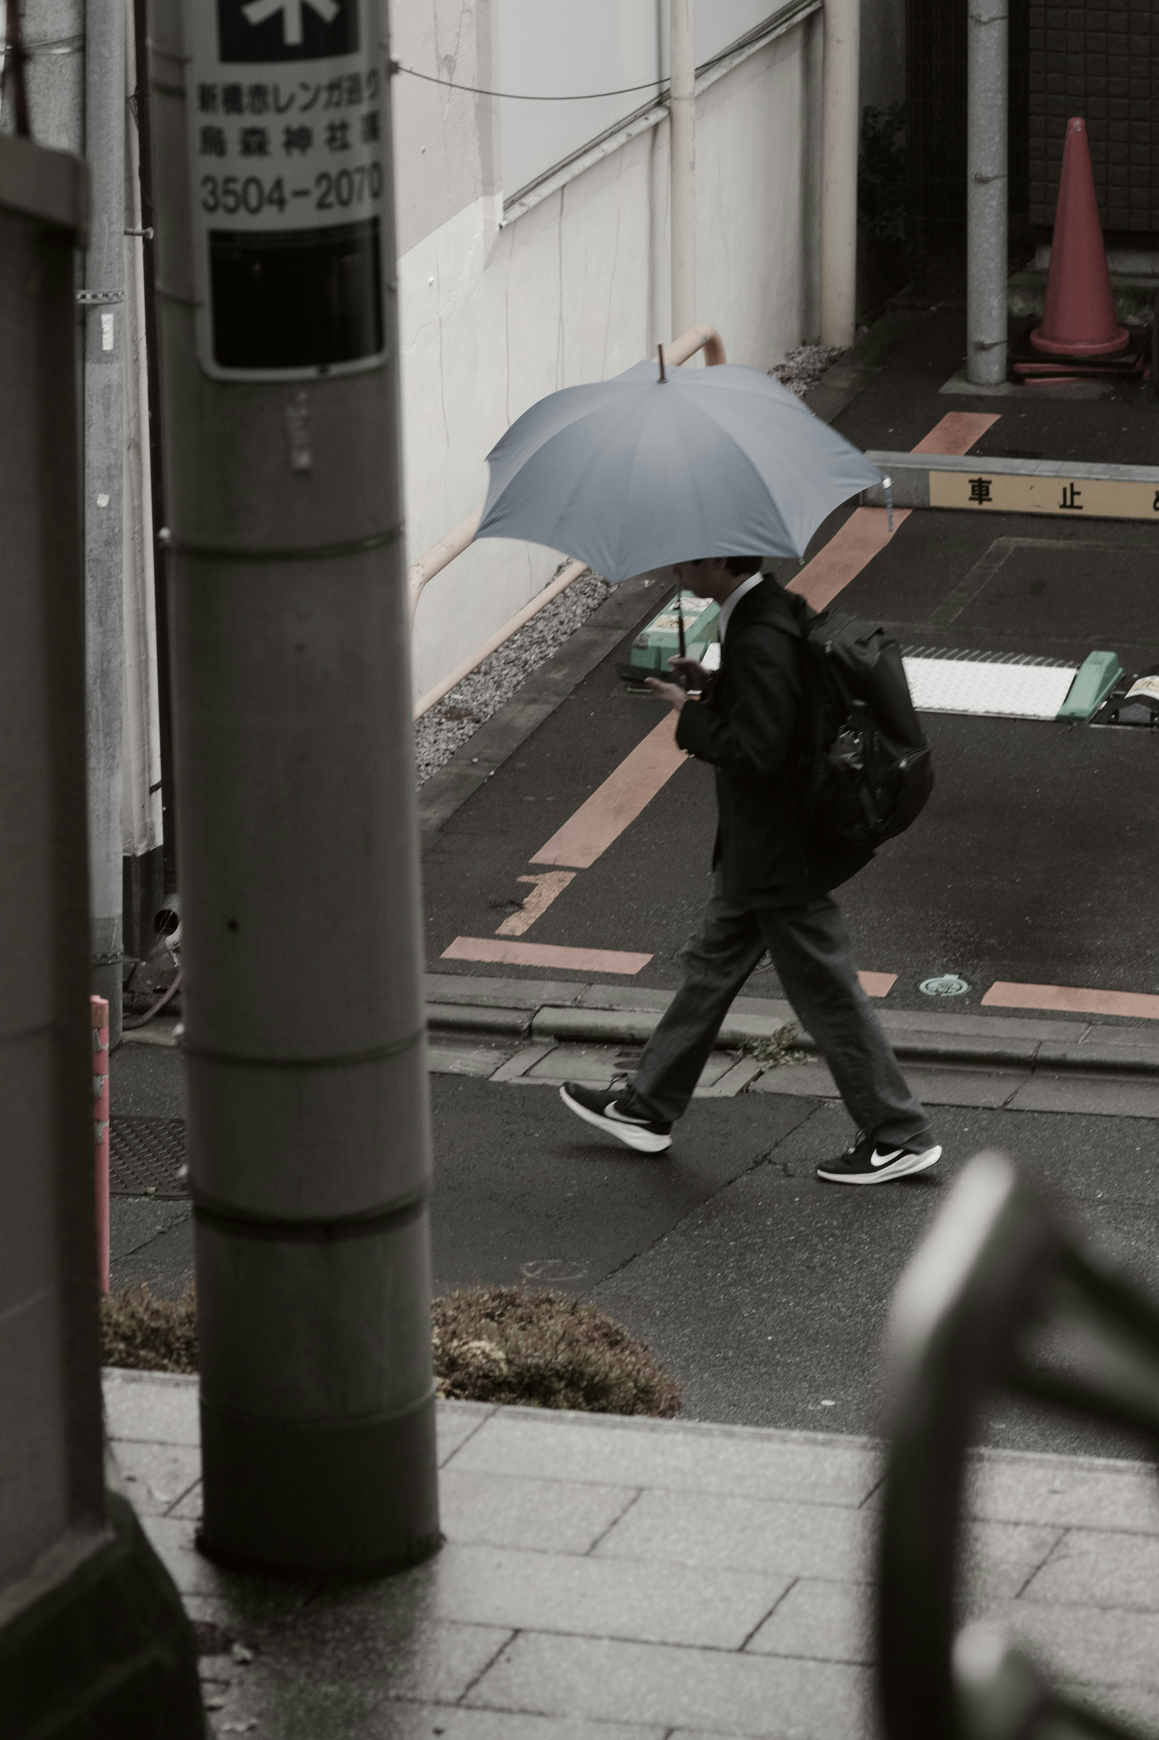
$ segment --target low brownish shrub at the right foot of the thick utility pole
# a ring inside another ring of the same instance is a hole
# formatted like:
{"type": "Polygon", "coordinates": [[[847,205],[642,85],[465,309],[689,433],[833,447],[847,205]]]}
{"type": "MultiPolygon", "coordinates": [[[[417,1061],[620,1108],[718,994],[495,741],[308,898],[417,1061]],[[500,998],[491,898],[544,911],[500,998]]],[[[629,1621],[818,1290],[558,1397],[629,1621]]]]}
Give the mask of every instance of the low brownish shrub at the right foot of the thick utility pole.
{"type": "Polygon", "coordinates": [[[462,1288],[434,1300],[438,1394],[671,1420],[683,1385],[606,1312],[563,1293],[462,1288]]]}

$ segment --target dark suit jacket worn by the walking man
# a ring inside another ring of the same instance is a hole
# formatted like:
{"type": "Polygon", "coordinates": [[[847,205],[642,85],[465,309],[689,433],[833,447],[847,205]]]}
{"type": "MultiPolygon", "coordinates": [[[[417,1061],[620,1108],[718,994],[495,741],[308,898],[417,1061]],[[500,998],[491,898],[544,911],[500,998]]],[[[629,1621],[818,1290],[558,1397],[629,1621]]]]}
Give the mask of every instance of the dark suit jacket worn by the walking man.
{"type": "Polygon", "coordinates": [[[792,606],[766,578],[733,609],[719,673],[676,727],[678,745],[716,767],[712,865],[725,900],[745,910],[815,900],[872,856],[818,846],[801,826],[801,658],[792,606]]]}

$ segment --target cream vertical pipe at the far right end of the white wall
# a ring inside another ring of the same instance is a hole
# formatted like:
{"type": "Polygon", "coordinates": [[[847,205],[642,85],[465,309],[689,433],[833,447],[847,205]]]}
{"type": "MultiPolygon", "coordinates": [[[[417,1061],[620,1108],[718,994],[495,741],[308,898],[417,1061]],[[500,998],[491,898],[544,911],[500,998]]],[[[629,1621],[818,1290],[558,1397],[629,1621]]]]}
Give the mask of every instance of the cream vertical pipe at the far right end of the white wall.
{"type": "Polygon", "coordinates": [[[857,331],[860,0],[825,0],[824,16],[820,338],[822,345],[851,345],[857,331]]]}

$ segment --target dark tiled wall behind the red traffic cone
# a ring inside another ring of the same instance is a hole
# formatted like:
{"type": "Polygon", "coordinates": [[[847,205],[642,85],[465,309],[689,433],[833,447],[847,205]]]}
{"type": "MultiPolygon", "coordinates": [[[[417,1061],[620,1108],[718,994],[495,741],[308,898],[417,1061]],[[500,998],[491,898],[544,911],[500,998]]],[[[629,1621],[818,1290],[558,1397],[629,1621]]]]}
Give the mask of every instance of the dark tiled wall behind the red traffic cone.
{"type": "Polygon", "coordinates": [[[1030,0],[1030,223],[1055,223],[1067,120],[1088,124],[1103,231],[1159,237],[1159,3],[1030,0]]]}

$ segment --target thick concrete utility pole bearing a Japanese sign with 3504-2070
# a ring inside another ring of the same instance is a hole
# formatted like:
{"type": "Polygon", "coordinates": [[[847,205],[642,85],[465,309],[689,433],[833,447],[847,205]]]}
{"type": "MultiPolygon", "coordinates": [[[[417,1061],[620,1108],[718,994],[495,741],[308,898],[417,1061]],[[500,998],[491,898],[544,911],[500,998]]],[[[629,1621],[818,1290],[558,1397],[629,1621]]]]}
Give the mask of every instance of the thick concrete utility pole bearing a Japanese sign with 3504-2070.
{"type": "Polygon", "coordinates": [[[202,1545],[384,1571],[440,1538],[386,9],[149,40],[202,1545]]]}

